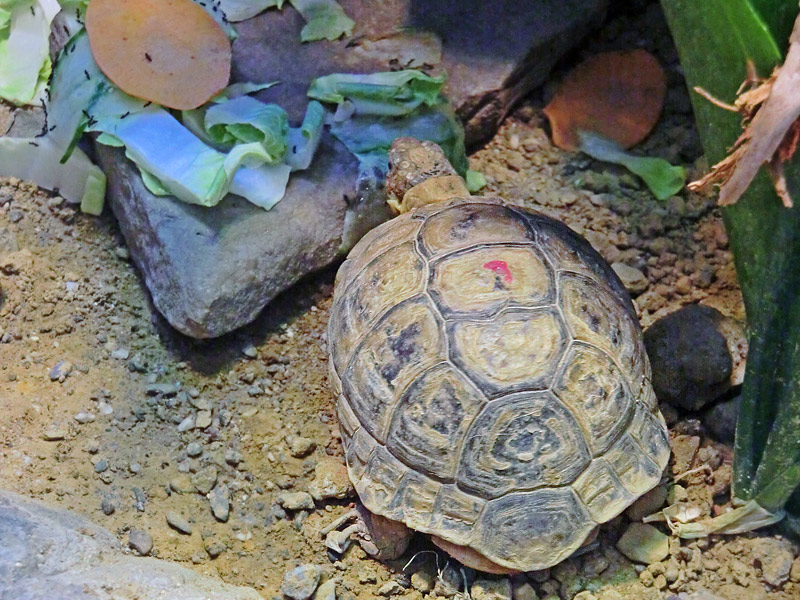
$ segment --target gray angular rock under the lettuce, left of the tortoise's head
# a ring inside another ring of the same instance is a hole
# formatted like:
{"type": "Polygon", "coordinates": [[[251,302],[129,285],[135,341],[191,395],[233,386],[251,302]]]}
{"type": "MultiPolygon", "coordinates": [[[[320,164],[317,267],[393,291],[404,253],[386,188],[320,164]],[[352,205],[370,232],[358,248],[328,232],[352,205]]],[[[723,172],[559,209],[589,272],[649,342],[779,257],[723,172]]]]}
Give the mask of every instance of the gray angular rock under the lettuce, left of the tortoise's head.
{"type": "Polygon", "coordinates": [[[382,194],[357,192],[356,160],[330,137],[270,211],[237,196],[213,209],[156,197],[122,151],[98,144],[97,152],[111,208],[153,303],[196,338],[249,323],[279,292],[390,216],[382,194]]]}

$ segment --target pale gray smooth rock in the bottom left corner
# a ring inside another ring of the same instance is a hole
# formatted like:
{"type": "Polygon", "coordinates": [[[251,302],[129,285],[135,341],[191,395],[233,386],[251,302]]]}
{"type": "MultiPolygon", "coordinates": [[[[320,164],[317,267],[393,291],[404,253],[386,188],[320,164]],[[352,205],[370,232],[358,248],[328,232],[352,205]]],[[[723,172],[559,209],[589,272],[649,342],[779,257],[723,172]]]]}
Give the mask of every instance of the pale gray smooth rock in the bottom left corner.
{"type": "Polygon", "coordinates": [[[126,556],[106,529],[0,491],[0,600],[109,598],[261,600],[163,560],[126,556]]]}

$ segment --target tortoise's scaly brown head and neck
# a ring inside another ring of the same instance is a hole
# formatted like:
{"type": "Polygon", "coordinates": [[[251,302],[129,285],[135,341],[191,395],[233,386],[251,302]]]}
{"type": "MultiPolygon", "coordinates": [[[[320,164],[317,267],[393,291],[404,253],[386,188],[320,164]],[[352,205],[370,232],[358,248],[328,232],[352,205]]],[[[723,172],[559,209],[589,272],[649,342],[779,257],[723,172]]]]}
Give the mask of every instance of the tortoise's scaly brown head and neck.
{"type": "Polygon", "coordinates": [[[469,196],[438,144],[412,137],[397,138],[389,149],[386,200],[396,213],[469,196]]]}

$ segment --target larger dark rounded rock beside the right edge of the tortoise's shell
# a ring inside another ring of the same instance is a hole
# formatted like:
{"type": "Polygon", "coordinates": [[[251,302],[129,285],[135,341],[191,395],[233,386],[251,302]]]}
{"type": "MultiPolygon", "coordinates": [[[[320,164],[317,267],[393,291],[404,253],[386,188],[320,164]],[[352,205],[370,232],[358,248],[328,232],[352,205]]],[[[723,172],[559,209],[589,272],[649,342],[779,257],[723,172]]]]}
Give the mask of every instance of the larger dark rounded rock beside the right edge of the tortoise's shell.
{"type": "Polygon", "coordinates": [[[692,304],[644,332],[659,400],[699,410],[730,389],[733,359],[721,333],[725,321],[716,309],[692,304]]]}

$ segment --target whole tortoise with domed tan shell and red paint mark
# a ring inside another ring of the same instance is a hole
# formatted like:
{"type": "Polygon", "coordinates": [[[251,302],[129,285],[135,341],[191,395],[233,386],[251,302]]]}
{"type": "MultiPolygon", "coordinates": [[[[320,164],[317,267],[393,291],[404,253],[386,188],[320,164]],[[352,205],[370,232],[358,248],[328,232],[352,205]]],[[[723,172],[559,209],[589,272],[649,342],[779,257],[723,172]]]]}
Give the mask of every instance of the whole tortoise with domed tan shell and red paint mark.
{"type": "Polygon", "coordinates": [[[669,458],[632,302],[584,238],[470,197],[435,145],[401,138],[390,160],[407,212],[350,252],[328,326],[348,474],[389,535],[493,573],[550,567],[669,458]]]}

